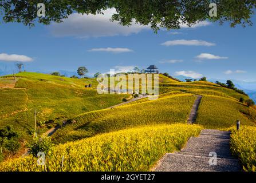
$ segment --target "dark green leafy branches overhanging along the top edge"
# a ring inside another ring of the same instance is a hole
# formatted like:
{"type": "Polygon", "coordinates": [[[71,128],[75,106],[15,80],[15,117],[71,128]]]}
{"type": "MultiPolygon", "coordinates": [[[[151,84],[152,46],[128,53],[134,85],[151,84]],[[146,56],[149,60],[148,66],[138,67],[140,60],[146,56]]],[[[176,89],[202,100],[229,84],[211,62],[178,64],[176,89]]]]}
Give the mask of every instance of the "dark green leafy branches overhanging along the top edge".
{"type": "Polygon", "coordinates": [[[0,16],[3,22],[21,22],[33,26],[35,22],[62,22],[72,13],[96,14],[115,8],[112,21],[129,26],[132,21],[150,25],[153,30],[160,27],[179,29],[181,23],[188,26],[209,19],[220,23],[229,22],[231,27],[252,25],[256,0],[2,0],[0,16]],[[210,17],[210,3],[217,5],[217,17],[210,17]],[[37,17],[37,3],[45,4],[46,16],[37,17]]]}

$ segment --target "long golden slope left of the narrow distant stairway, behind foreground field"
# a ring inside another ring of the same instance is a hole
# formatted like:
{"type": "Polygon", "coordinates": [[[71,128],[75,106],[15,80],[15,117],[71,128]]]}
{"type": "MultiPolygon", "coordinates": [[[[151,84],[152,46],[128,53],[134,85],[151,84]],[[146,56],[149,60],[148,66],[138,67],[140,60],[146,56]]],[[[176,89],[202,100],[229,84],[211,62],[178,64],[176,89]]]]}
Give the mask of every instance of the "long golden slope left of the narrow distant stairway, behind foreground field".
{"type": "Polygon", "coordinates": [[[191,94],[171,94],[155,101],[143,100],[118,108],[81,114],[73,118],[73,124],[53,134],[54,142],[64,143],[140,125],[185,124],[194,101],[195,97],[191,94]]]}

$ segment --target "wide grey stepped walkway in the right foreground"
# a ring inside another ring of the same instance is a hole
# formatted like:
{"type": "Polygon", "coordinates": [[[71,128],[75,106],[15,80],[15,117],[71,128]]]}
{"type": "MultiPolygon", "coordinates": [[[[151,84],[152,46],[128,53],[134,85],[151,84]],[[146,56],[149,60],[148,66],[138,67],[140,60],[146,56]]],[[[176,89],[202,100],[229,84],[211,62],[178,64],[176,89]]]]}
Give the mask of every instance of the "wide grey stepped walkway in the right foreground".
{"type": "Polygon", "coordinates": [[[230,132],[202,130],[199,137],[191,137],[180,152],[167,153],[157,163],[157,172],[238,172],[242,170],[231,156],[230,132]],[[217,154],[216,165],[210,165],[210,152],[217,154]]]}

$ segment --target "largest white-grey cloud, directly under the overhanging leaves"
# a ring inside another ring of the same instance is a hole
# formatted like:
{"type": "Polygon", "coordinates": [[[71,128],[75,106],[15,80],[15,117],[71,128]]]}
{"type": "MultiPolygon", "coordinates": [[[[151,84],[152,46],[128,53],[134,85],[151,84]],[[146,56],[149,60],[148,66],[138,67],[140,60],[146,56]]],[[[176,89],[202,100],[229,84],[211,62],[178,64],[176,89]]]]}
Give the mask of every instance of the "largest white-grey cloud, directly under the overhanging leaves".
{"type": "Polygon", "coordinates": [[[121,26],[117,21],[110,21],[112,15],[116,13],[115,9],[108,9],[103,12],[104,15],[71,14],[67,19],[64,19],[64,22],[53,23],[50,26],[50,32],[57,37],[88,38],[136,34],[142,30],[151,29],[150,26],[143,26],[135,22],[131,26],[121,26]]]}

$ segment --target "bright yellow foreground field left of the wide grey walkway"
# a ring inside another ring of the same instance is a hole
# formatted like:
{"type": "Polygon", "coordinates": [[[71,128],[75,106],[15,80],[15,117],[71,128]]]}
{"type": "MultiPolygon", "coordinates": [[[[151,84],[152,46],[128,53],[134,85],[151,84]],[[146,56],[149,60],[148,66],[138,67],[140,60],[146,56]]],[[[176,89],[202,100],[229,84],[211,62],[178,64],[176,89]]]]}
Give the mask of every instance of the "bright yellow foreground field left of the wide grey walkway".
{"type": "Polygon", "coordinates": [[[0,164],[0,171],[148,171],[165,153],[180,150],[188,138],[198,136],[201,129],[176,124],[106,133],[56,146],[45,166],[28,156],[0,164]]]}

